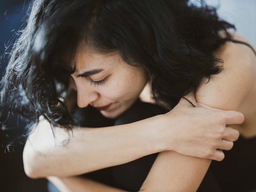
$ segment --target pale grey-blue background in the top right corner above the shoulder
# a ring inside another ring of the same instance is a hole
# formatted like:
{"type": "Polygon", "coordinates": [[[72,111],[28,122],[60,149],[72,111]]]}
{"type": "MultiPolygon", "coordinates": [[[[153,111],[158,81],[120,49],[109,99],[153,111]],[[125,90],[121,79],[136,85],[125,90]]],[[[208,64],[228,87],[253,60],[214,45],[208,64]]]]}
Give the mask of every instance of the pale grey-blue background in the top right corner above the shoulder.
{"type": "Polygon", "coordinates": [[[244,36],[256,49],[256,0],[205,0],[205,2],[208,5],[219,5],[220,18],[234,24],[236,32],[244,36]]]}

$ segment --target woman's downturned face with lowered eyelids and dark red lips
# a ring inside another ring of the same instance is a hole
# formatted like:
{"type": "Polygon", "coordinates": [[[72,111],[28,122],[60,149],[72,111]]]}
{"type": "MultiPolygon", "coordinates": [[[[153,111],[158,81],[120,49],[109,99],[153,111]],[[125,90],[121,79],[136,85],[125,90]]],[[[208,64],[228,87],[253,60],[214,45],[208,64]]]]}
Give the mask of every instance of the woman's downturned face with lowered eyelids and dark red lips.
{"type": "Polygon", "coordinates": [[[107,106],[99,109],[107,118],[115,118],[128,109],[147,84],[146,69],[125,63],[118,53],[103,55],[80,46],[75,65],[70,86],[77,91],[78,107],[107,106]]]}

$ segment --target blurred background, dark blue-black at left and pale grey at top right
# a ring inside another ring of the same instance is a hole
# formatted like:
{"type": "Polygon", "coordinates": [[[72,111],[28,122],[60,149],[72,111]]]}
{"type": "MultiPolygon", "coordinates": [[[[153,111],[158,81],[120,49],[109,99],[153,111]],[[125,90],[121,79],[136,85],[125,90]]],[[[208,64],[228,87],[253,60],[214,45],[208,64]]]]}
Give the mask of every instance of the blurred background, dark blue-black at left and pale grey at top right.
{"type": "MultiPolygon", "coordinates": [[[[197,0],[191,0],[196,2],[197,0]]],[[[244,36],[256,48],[256,1],[255,0],[206,0],[209,5],[219,6],[218,13],[224,20],[235,24],[237,33],[244,36]]],[[[16,33],[27,19],[29,0],[0,0],[0,78],[4,74],[8,55],[4,55],[6,46],[16,39],[16,33]]],[[[1,106],[0,106],[1,107],[1,106]]],[[[0,117],[3,122],[4,116],[0,117]]],[[[46,180],[29,179],[23,169],[22,150],[24,143],[15,148],[6,148],[6,144],[24,132],[26,123],[13,116],[7,129],[0,129],[0,191],[1,192],[46,192],[46,180]],[[17,125],[18,124],[18,125],[17,125]],[[10,152],[9,152],[10,151],[10,152]]],[[[1,124],[0,124],[1,126],[1,124]]]]}

